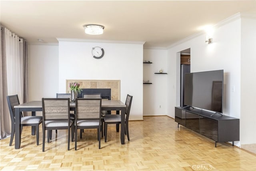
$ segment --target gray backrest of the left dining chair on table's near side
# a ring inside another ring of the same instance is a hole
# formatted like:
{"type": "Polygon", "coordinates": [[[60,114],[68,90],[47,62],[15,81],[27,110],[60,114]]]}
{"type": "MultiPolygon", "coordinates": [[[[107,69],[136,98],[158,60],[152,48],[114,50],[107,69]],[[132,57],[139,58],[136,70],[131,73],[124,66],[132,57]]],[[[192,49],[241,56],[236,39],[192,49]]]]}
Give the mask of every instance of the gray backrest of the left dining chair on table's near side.
{"type": "Polygon", "coordinates": [[[70,98],[42,98],[43,123],[46,120],[70,120],[70,98]]]}

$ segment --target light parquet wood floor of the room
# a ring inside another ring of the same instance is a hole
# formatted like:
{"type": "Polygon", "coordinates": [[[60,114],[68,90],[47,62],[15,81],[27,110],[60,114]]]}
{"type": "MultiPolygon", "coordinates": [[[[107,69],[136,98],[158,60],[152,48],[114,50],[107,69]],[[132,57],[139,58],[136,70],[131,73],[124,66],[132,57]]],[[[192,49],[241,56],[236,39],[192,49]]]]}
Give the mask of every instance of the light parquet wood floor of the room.
{"type": "Polygon", "coordinates": [[[0,141],[0,169],[4,170],[156,170],[156,171],[256,171],[256,155],[228,143],[217,143],[187,129],[177,128],[167,116],[144,117],[144,121],[129,122],[130,141],[120,144],[115,127],[108,128],[108,142],[101,139],[98,149],[96,131],[84,130],[78,135],[78,150],[74,142],[67,150],[67,132],[53,131],[52,142],[42,152],[31,128],[22,131],[21,148],[9,146],[10,138],[0,141]]]}

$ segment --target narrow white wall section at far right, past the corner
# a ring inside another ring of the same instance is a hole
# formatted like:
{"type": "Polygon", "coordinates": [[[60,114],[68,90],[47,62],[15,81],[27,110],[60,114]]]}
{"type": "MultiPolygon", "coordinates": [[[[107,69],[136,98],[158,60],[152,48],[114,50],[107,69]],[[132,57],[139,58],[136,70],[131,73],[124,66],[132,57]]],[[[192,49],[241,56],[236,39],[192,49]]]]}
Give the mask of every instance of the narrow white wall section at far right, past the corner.
{"type": "Polygon", "coordinates": [[[256,18],[241,22],[241,144],[256,143],[256,18]]]}

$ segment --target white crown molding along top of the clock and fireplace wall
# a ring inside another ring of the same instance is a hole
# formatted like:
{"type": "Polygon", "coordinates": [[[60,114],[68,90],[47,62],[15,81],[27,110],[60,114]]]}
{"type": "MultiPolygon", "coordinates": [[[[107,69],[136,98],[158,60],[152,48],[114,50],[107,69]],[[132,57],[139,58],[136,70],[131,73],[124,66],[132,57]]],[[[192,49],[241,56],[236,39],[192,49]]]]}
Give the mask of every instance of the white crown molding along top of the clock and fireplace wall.
{"type": "Polygon", "coordinates": [[[56,38],[59,42],[97,42],[97,43],[122,43],[122,44],[144,44],[141,41],[118,41],[118,40],[100,40],[100,39],[71,39],[71,38],[56,38]]]}

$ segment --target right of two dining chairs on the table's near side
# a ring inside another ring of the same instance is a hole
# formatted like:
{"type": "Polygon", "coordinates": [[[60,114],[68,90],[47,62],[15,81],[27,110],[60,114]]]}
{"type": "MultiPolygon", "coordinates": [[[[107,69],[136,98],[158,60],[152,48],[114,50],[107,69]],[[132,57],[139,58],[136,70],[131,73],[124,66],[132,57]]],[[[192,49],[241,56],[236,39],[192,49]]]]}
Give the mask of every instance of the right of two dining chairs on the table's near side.
{"type": "Polygon", "coordinates": [[[97,129],[100,149],[101,100],[101,98],[76,99],[75,150],[77,149],[78,129],[97,129]]]}

